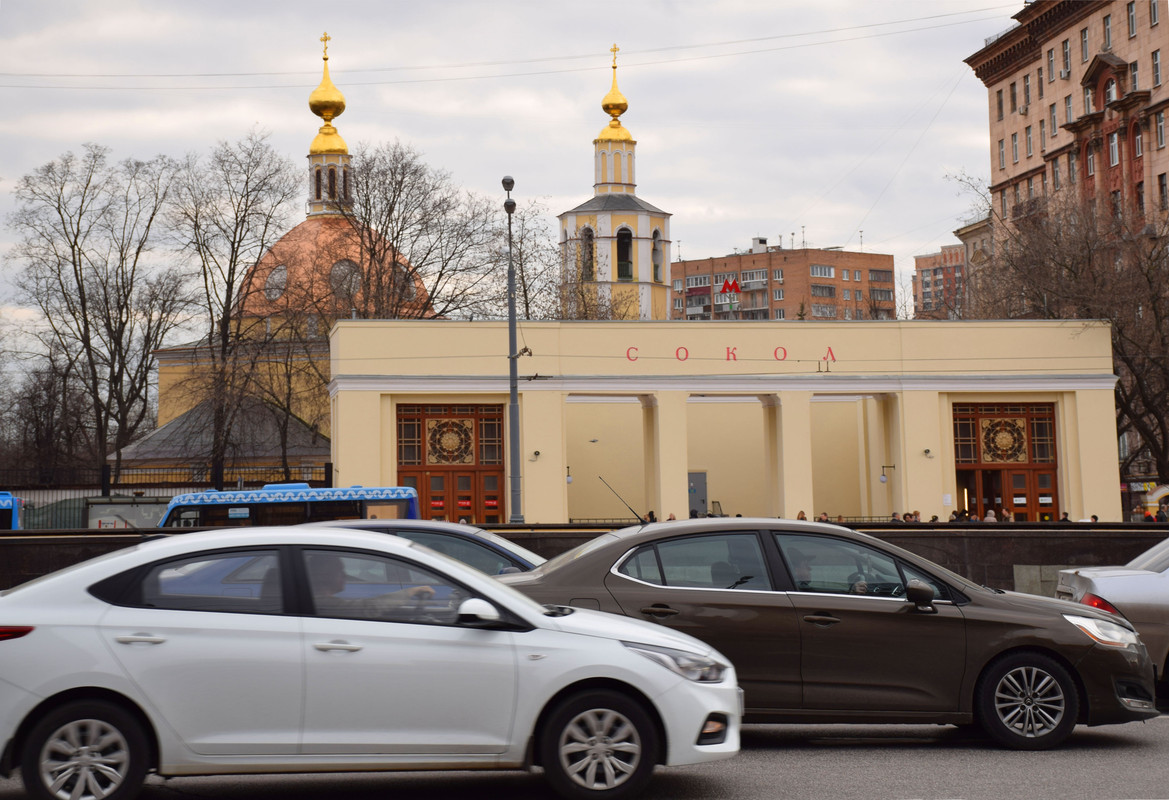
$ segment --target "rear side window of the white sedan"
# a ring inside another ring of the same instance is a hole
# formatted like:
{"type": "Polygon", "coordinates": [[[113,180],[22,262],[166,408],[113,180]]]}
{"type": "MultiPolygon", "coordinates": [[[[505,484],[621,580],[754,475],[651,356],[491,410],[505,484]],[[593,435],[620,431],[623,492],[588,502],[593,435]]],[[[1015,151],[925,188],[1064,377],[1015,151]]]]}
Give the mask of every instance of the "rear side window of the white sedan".
{"type": "Polygon", "coordinates": [[[276,551],[230,551],[155,564],[143,579],[141,602],[181,611],[279,612],[279,556],[276,551]]]}

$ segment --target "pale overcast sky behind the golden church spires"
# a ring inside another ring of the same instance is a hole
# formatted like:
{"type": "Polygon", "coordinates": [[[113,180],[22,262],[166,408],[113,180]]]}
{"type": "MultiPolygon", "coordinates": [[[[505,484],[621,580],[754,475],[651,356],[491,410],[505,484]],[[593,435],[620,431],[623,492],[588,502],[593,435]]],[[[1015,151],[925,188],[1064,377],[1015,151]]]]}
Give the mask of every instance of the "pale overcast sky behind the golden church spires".
{"type": "Polygon", "coordinates": [[[989,172],[987,91],[962,60],[1022,7],[0,0],[0,213],[20,175],[90,142],[179,157],[260,127],[303,158],[327,30],[351,149],[400,139],[500,202],[511,174],[554,216],[593,194],[617,43],[637,194],[673,214],[675,258],[795,234],[912,270],[973,213],[947,175],[989,172]]]}

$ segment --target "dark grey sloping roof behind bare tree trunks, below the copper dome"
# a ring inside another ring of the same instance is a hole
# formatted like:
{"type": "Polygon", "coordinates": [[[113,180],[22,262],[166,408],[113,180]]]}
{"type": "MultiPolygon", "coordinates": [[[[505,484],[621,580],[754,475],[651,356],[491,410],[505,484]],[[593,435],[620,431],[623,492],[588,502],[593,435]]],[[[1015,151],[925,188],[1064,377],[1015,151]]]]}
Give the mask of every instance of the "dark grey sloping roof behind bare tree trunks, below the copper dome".
{"type": "MultiPolygon", "coordinates": [[[[155,428],[133,444],[122,448],[123,463],[150,461],[192,462],[210,453],[210,404],[201,402],[186,414],[155,428]]],[[[281,455],[277,409],[261,400],[244,402],[235,419],[229,458],[278,458],[281,455]]],[[[289,421],[290,458],[330,460],[330,441],[298,418],[289,421]]],[[[112,456],[111,456],[112,457],[112,456]]]]}

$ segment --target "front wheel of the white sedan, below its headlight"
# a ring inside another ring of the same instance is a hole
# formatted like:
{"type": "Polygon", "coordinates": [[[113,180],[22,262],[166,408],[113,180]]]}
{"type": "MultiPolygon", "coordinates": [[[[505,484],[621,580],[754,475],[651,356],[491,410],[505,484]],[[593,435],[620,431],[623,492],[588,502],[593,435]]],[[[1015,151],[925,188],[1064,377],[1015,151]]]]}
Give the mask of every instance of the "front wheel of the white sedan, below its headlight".
{"type": "Polygon", "coordinates": [[[645,709],[608,690],[562,701],[538,743],[548,782],[573,800],[636,796],[653,774],[658,746],[657,727],[645,709]]]}

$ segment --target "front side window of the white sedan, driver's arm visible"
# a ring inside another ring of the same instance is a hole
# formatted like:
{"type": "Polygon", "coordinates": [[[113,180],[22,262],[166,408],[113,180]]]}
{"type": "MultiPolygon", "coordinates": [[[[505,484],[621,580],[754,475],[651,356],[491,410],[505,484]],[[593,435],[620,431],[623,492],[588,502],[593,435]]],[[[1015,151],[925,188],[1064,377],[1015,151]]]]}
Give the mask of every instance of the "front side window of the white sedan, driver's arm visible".
{"type": "Polygon", "coordinates": [[[304,551],[317,616],[454,625],[468,593],[436,572],[395,558],[304,551]]]}

